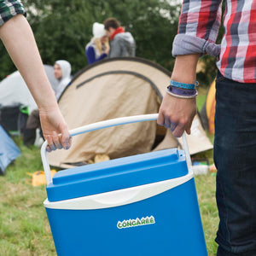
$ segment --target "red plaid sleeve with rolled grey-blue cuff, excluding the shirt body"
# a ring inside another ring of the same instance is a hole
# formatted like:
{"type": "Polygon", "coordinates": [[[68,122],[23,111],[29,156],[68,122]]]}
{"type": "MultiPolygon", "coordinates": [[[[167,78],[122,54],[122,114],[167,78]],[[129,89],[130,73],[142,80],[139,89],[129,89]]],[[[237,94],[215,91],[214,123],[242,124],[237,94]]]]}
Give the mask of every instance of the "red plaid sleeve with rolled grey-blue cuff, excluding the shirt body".
{"type": "Polygon", "coordinates": [[[222,0],[183,0],[172,55],[210,54],[218,56],[215,44],[221,22],[222,0]]]}

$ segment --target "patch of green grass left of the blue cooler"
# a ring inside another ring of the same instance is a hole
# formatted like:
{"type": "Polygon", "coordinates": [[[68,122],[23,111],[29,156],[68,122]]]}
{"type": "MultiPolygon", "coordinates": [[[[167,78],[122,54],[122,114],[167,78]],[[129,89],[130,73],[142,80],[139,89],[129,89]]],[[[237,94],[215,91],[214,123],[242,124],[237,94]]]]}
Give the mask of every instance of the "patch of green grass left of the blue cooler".
{"type": "Polygon", "coordinates": [[[22,156],[0,177],[0,255],[55,255],[43,202],[45,186],[32,187],[27,172],[43,170],[39,148],[25,148],[22,156]]]}

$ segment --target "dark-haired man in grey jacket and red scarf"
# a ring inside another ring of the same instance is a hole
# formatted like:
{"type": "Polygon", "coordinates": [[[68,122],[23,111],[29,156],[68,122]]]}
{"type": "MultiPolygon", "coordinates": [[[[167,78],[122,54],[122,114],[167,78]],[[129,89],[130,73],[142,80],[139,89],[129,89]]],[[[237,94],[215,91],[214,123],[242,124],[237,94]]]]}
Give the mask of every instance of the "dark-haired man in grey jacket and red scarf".
{"type": "Polygon", "coordinates": [[[134,57],[136,43],[131,32],[125,32],[123,26],[115,18],[108,18],[104,21],[105,30],[110,40],[110,51],[108,58],[113,57],[134,57]]]}

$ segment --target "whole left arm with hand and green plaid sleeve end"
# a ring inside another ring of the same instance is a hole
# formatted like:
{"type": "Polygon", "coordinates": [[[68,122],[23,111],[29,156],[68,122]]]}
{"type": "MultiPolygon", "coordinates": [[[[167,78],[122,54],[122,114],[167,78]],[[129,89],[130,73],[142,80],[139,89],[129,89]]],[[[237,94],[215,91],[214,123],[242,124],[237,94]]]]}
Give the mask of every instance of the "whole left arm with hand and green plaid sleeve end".
{"type": "Polygon", "coordinates": [[[47,151],[70,148],[67,123],[44,71],[26,11],[18,0],[0,2],[0,38],[38,105],[47,151]],[[59,136],[61,134],[61,136],[59,136]]]}

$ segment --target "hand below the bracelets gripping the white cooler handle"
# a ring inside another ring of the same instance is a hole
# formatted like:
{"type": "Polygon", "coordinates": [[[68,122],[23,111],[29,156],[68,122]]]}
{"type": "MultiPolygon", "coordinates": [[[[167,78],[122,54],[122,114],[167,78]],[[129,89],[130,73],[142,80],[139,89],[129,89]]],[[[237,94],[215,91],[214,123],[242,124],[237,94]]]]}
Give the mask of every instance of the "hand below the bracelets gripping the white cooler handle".
{"type": "Polygon", "coordinates": [[[196,114],[196,99],[182,99],[166,93],[160,105],[158,125],[171,129],[174,137],[181,137],[186,131],[190,134],[196,114]]]}

